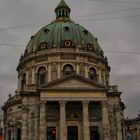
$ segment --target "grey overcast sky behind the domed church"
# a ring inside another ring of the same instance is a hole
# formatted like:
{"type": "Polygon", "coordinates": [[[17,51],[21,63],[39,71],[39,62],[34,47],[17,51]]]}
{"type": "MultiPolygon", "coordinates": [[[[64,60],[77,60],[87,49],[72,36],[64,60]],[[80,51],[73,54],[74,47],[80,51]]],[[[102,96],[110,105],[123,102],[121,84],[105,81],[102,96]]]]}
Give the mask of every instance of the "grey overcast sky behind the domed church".
{"type": "MultiPolygon", "coordinates": [[[[55,19],[58,2],[0,0],[0,104],[14,94],[19,57],[30,37],[55,19]]],[[[140,0],[66,2],[71,18],[98,38],[111,66],[110,83],[123,91],[125,115],[136,117],[140,110],[140,0]]]]}

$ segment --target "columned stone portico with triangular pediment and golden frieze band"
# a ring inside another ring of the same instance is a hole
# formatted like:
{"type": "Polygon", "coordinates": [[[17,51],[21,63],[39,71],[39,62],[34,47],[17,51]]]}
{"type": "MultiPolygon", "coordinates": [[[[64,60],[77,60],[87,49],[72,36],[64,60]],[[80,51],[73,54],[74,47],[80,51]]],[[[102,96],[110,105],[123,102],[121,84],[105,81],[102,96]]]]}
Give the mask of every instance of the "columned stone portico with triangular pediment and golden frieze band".
{"type": "Polygon", "coordinates": [[[63,82],[57,81],[49,85],[49,88],[47,86],[42,88],[40,140],[46,140],[50,128],[55,128],[56,139],[92,140],[97,137],[103,140],[103,137],[106,137],[109,140],[109,134],[106,133],[109,123],[106,122],[108,109],[105,106],[107,104],[105,89],[86,83],[84,88],[79,90],[78,85],[84,81],[73,77],[76,85],[68,78],[63,82]],[[63,84],[67,84],[68,87],[65,86],[64,89],[63,84]]]}

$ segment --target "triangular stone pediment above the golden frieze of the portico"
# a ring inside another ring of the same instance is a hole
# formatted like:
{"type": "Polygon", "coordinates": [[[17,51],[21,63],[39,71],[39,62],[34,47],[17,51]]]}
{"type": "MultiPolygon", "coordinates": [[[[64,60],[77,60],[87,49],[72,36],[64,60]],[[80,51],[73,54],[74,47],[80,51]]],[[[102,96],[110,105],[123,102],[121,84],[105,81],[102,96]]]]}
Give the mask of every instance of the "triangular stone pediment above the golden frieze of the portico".
{"type": "Polygon", "coordinates": [[[80,75],[71,75],[56,81],[49,82],[43,89],[105,89],[99,83],[90,81],[88,78],[80,75]]]}

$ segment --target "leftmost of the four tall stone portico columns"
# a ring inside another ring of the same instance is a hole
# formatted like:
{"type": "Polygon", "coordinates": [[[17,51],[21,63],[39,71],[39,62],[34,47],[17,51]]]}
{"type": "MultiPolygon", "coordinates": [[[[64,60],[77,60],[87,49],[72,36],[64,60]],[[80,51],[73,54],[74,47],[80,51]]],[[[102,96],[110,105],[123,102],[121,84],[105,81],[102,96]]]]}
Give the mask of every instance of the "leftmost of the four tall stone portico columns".
{"type": "Polygon", "coordinates": [[[46,140],[46,102],[40,103],[39,140],[46,140]]]}

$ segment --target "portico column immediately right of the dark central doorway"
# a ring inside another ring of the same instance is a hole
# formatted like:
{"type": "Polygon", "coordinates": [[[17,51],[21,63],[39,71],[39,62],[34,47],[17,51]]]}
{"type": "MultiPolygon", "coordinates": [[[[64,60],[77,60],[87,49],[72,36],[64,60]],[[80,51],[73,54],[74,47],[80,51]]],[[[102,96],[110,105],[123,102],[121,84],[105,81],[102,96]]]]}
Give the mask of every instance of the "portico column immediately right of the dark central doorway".
{"type": "Polygon", "coordinates": [[[83,101],[83,140],[90,140],[88,101],[83,101]]]}

